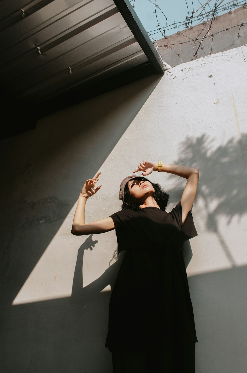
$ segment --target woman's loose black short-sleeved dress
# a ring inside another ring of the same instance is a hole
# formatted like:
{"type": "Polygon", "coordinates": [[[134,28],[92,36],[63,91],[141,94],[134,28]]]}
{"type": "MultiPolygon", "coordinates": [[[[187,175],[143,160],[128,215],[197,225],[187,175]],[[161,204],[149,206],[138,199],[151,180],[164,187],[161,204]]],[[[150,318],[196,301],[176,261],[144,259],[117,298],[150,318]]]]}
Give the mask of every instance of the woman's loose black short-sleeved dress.
{"type": "Polygon", "coordinates": [[[170,213],[145,207],[111,218],[118,251],[127,251],[111,294],[105,347],[155,356],[156,372],[193,373],[197,338],[182,252],[197,235],[191,212],[182,223],[179,202],[170,213]]]}

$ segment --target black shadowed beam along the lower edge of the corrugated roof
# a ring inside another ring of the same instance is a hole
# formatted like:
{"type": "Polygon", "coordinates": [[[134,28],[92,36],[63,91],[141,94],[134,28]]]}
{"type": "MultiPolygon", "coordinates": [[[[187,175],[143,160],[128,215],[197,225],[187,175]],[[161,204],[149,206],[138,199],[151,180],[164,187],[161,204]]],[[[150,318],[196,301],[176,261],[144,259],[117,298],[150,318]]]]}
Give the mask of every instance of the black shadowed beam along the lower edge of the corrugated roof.
{"type": "Polygon", "coordinates": [[[0,140],[35,129],[37,120],[42,117],[153,74],[157,74],[157,70],[150,62],[146,62],[105,81],[92,84],[92,80],[90,80],[88,84],[78,85],[66,93],[33,106],[18,101],[1,90],[1,110],[5,119],[0,140]]]}

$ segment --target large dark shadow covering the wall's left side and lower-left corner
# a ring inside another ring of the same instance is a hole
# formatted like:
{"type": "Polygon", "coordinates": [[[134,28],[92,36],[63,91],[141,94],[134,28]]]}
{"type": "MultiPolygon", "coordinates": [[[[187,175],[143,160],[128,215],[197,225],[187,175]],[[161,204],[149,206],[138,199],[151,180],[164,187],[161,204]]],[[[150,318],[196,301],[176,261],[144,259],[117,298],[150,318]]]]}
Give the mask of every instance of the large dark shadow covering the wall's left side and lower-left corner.
{"type": "MultiPolygon", "coordinates": [[[[12,302],[75,204],[83,182],[95,175],[161,78],[149,76],[70,107],[40,120],[34,131],[1,143],[4,373],[17,369],[83,372],[80,363],[89,352],[95,366],[109,372],[108,361],[104,367],[106,349],[101,340],[106,335],[109,292],[97,293],[88,305],[74,303],[73,296],[20,306],[12,306],[12,302]],[[88,314],[94,322],[89,320],[80,327],[80,320],[87,321],[88,314]],[[98,335],[94,335],[96,330],[98,335]],[[83,352],[81,335],[83,341],[90,341],[83,345],[83,352]]],[[[86,365],[86,372],[98,373],[94,364],[86,365]]]]}

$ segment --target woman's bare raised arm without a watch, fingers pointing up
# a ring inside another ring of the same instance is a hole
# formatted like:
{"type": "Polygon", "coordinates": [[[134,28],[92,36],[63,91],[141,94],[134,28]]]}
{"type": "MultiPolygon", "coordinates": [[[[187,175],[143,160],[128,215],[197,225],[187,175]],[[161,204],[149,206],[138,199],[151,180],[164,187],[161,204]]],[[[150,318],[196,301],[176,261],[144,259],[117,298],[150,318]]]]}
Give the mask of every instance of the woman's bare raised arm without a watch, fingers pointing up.
{"type": "Polygon", "coordinates": [[[80,192],[71,230],[71,233],[73,235],[82,236],[94,233],[104,233],[112,231],[115,228],[113,219],[111,219],[110,216],[105,217],[104,219],[95,220],[91,223],[85,223],[86,201],[101,187],[101,185],[99,185],[97,188],[94,189],[99,174],[100,172],[94,178],[88,179],[83,185],[82,191],[80,192]]]}

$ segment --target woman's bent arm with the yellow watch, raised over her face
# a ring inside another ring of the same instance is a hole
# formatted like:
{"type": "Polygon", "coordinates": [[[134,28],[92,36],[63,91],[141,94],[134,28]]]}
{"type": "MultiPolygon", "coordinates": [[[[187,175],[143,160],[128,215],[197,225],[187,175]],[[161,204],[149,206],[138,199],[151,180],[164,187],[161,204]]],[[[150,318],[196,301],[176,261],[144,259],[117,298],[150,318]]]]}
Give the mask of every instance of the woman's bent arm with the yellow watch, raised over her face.
{"type": "MultiPolygon", "coordinates": [[[[147,176],[152,171],[158,171],[158,163],[143,161],[140,163],[137,169],[133,171],[143,171],[142,175],[147,176]]],[[[181,197],[181,206],[183,210],[183,222],[186,219],[191,207],[193,205],[196,189],[199,179],[199,169],[186,166],[178,166],[176,164],[162,164],[162,171],[167,173],[172,173],[173,175],[181,176],[187,179],[186,186],[181,197]]]]}

